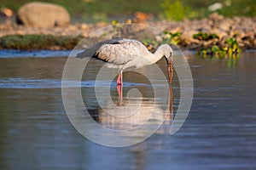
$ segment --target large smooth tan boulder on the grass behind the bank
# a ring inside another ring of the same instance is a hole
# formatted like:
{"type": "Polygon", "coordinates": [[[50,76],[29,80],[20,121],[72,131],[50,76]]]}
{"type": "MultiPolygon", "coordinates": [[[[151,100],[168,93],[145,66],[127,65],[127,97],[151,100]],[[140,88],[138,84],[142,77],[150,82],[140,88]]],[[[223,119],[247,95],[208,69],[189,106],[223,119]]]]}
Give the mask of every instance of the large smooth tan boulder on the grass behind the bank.
{"type": "Polygon", "coordinates": [[[53,3],[26,3],[17,13],[17,23],[24,26],[67,26],[69,22],[70,15],[67,10],[53,3]]]}

